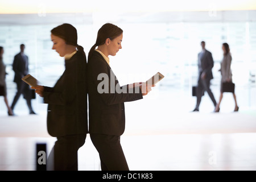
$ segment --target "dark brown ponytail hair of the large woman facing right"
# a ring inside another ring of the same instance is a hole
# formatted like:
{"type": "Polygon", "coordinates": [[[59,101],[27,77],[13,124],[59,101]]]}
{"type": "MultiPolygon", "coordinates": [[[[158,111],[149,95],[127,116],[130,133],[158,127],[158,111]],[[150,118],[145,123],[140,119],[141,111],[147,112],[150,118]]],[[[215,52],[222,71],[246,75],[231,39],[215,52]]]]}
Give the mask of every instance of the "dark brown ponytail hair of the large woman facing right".
{"type": "Polygon", "coordinates": [[[96,39],[96,43],[90,48],[90,51],[88,53],[88,60],[90,56],[92,55],[92,52],[96,49],[97,46],[101,46],[105,44],[106,39],[113,40],[117,38],[119,35],[123,33],[123,30],[119,28],[118,26],[112,24],[112,23],[106,23],[104,24],[100,30],[98,30],[98,35],[96,39]]]}

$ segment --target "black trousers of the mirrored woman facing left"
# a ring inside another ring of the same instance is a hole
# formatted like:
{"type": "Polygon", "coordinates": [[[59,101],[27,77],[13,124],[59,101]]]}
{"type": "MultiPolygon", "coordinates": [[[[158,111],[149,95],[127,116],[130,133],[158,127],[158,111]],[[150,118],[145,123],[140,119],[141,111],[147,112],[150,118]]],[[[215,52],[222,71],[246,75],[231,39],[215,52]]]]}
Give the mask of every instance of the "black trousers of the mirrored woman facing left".
{"type": "Polygon", "coordinates": [[[48,171],[77,171],[77,151],[85,143],[86,134],[57,137],[47,159],[48,171]]]}

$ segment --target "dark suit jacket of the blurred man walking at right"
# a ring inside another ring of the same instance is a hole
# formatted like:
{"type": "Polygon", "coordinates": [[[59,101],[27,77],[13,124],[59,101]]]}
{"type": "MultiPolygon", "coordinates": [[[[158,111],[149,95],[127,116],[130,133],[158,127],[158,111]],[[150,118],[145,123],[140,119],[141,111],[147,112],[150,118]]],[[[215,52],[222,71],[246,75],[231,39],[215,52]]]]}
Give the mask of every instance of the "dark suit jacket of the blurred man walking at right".
{"type": "Polygon", "coordinates": [[[212,53],[205,50],[205,53],[203,55],[202,55],[202,52],[198,54],[199,80],[203,72],[206,73],[207,80],[213,79],[213,75],[212,75],[213,64],[214,63],[213,63],[212,53]]]}

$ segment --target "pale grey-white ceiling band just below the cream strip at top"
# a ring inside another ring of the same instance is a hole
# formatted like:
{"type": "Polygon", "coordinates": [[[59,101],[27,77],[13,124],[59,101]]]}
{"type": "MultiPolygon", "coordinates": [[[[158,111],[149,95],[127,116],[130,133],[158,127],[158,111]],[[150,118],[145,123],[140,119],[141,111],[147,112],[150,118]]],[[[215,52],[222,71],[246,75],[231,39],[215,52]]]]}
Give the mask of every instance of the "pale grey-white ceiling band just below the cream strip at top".
{"type": "Polygon", "coordinates": [[[156,13],[48,13],[0,14],[1,25],[28,24],[102,24],[109,23],[173,23],[173,22],[256,22],[256,10],[185,11],[156,13]]]}

